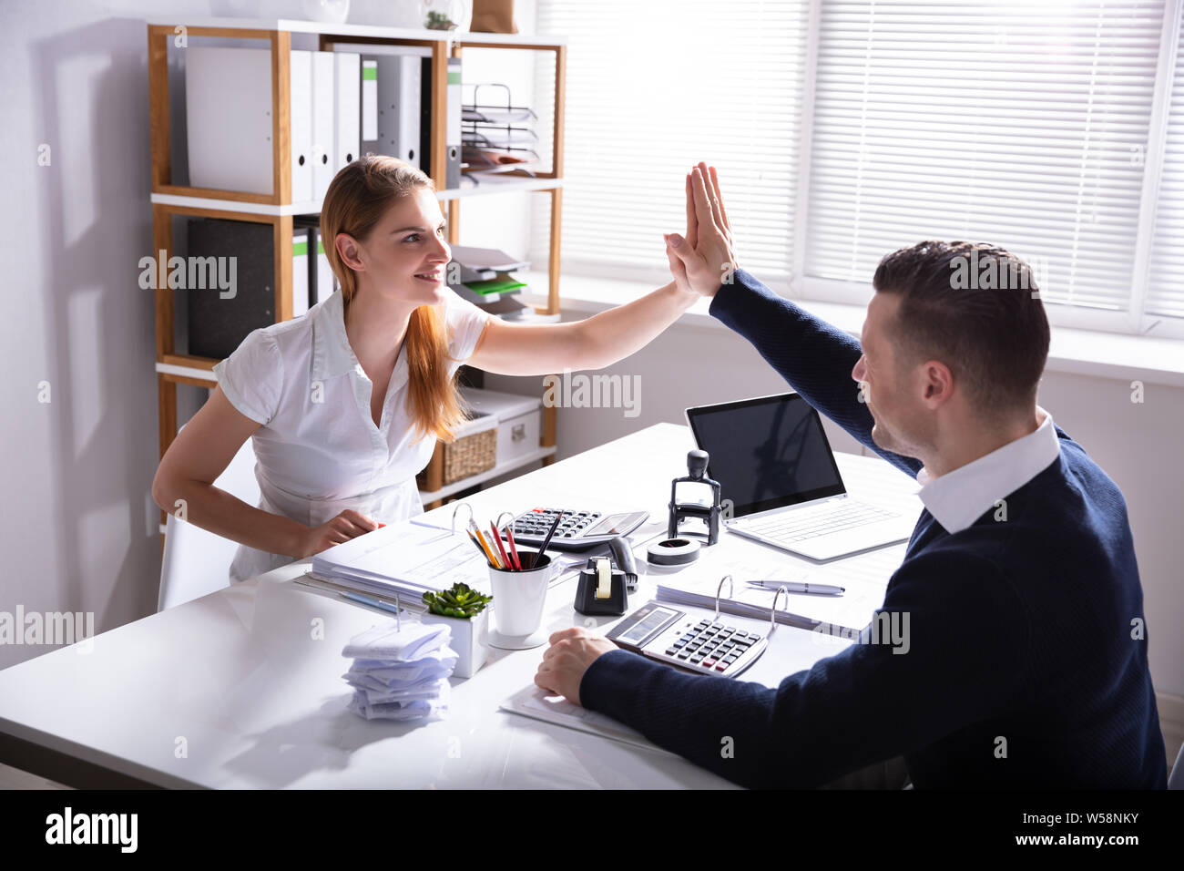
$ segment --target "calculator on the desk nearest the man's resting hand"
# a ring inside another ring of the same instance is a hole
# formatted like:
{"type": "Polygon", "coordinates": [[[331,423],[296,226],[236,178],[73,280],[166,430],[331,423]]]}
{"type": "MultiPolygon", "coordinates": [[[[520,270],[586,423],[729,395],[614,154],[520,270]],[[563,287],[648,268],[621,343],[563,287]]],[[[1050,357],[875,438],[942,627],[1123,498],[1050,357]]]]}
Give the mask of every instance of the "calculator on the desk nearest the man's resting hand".
{"type": "Polygon", "coordinates": [[[767,639],[719,620],[696,620],[650,602],[622,620],[607,638],[618,647],[700,674],[734,678],[765,652],[767,639]]]}

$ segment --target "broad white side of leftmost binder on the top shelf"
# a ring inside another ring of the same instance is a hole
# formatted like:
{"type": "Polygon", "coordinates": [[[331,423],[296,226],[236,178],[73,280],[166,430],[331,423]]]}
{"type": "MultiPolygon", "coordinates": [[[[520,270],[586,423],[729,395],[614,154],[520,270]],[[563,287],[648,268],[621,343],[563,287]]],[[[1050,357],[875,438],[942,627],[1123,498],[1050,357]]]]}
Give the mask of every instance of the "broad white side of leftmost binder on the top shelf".
{"type": "Polygon", "coordinates": [[[185,50],[189,184],[272,193],[271,51],[185,50]]]}

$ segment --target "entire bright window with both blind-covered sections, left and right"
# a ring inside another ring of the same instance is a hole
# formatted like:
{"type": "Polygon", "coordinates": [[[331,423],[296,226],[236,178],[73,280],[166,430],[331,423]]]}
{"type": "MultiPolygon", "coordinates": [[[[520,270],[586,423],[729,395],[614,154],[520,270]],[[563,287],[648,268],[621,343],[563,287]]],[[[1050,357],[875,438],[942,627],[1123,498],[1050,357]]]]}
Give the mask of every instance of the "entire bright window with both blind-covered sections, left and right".
{"type": "Polygon", "coordinates": [[[565,269],[664,267],[706,159],[783,292],[863,302],[889,251],[992,242],[1055,324],[1184,334],[1182,5],[540,0],[571,38],[565,269]]]}

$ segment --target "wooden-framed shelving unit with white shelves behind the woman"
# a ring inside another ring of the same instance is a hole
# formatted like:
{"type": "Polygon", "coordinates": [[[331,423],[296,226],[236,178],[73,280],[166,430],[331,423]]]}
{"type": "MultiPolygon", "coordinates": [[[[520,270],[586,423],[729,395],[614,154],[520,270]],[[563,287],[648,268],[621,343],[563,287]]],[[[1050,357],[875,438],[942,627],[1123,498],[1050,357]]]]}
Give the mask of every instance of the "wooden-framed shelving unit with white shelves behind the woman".
{"type": "MultiPolygon", "coordinates": [[[[566,82],[566,45],[562,39],[538,38],[522,34],[455,33],[446,31],[408,30],[403,27],[374,27],[368,25],[322,24],[289,19],[236,19],[201,18],[188,20],[148,21],[148,96],[152,137],[152,211],[153,250],[173,254],[173,218],[175,216],[226,218],[270,224],[275,249],[275,310],[277,322],[292,316],[292,216],[315,214],[321,211],[320,201],[291,201],[290,166],[290,119],[289,119],[289,52],[292,33],[317,34],[321,51],[332,51],[334,43],[371,43],[386,45],[418,45],[431,49],[431,159],[432,180],[437,198],[448,203],[449,242],[459,242],[461,201],[468,197],[497,196],[507,192],[536,191],[551,198],[551,239],[547,305],[536,307],[540,314],[559,313],[559,246],[562,218],[564,186],[564,98],[566,82]],[[173,184],[170,160],[169,98],[168,98],[168,45],[180,33],[187,37],[215,37],[223,39],[263,39],[271,49],[271,102],[272,102],[272,192],[270,194],[221,191],[173,184]],[[481,49],[507,49],[516,51],[545,51],[554,55],[555,95],[554,133],[552,140],[552,169],[534,175],[526,173],[498,173],[482,177],[482,184],[471,188],[445,188],[445,123],[448,107],[448,59],[461,57],[464,46],[481,49]]],[[[478,243],[480,244],[480,243],[478,243]]],[[[218,360],[178,353],[174,346],[173,292],[167,287],[167,276],[159,276],[155,290],[156,305],[156,385],[160,402],[160,453],[161,456],[176,437],[176,385],[192,384],[212,388],[217,383],[213,367],[218,360]],[[163,287],[160,284],[165,283],[163,287]]],[[[498,467],[484,478],[490,478],[542,460],[554,461],[555,409],[543,406],[539,450],[521,461],[498,467]]],[[[427,466],[426,488],[422,491],[429,499],[425,507],[435,507],[439,500],[472,483],[457,482],[443,486],[443,446],[437,443],[436,453],[427,466]]]]}

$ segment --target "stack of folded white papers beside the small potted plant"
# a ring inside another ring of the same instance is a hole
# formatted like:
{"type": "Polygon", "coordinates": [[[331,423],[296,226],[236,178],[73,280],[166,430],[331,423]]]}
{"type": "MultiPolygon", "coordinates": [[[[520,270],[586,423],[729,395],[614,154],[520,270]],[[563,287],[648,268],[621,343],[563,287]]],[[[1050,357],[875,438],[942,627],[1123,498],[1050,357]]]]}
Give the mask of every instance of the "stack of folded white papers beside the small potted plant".
{"type": "Polygon", "coordinates": [[[341,652],[354,660],[341,675],[354,687],[349,710],[366,719],[443,718],[457,661],[450,638],[444,625],[391,621],[350,639],[341,652]]]}

